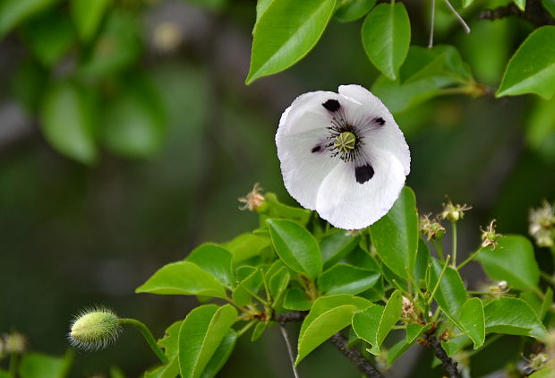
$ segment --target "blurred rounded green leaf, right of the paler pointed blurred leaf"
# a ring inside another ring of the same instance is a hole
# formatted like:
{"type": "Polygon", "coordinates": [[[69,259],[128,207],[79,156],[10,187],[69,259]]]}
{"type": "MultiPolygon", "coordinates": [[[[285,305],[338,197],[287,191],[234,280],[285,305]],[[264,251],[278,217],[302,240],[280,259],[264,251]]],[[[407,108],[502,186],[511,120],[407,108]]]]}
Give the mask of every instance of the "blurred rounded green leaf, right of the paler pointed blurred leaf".
{"type": "Polygon", "coordinates": [[[166,119],[158,94],[146,78],[133,76],[108,102],[102,140],[108,150],[129,158],[149,157],[162,148],[166,119]]]}

